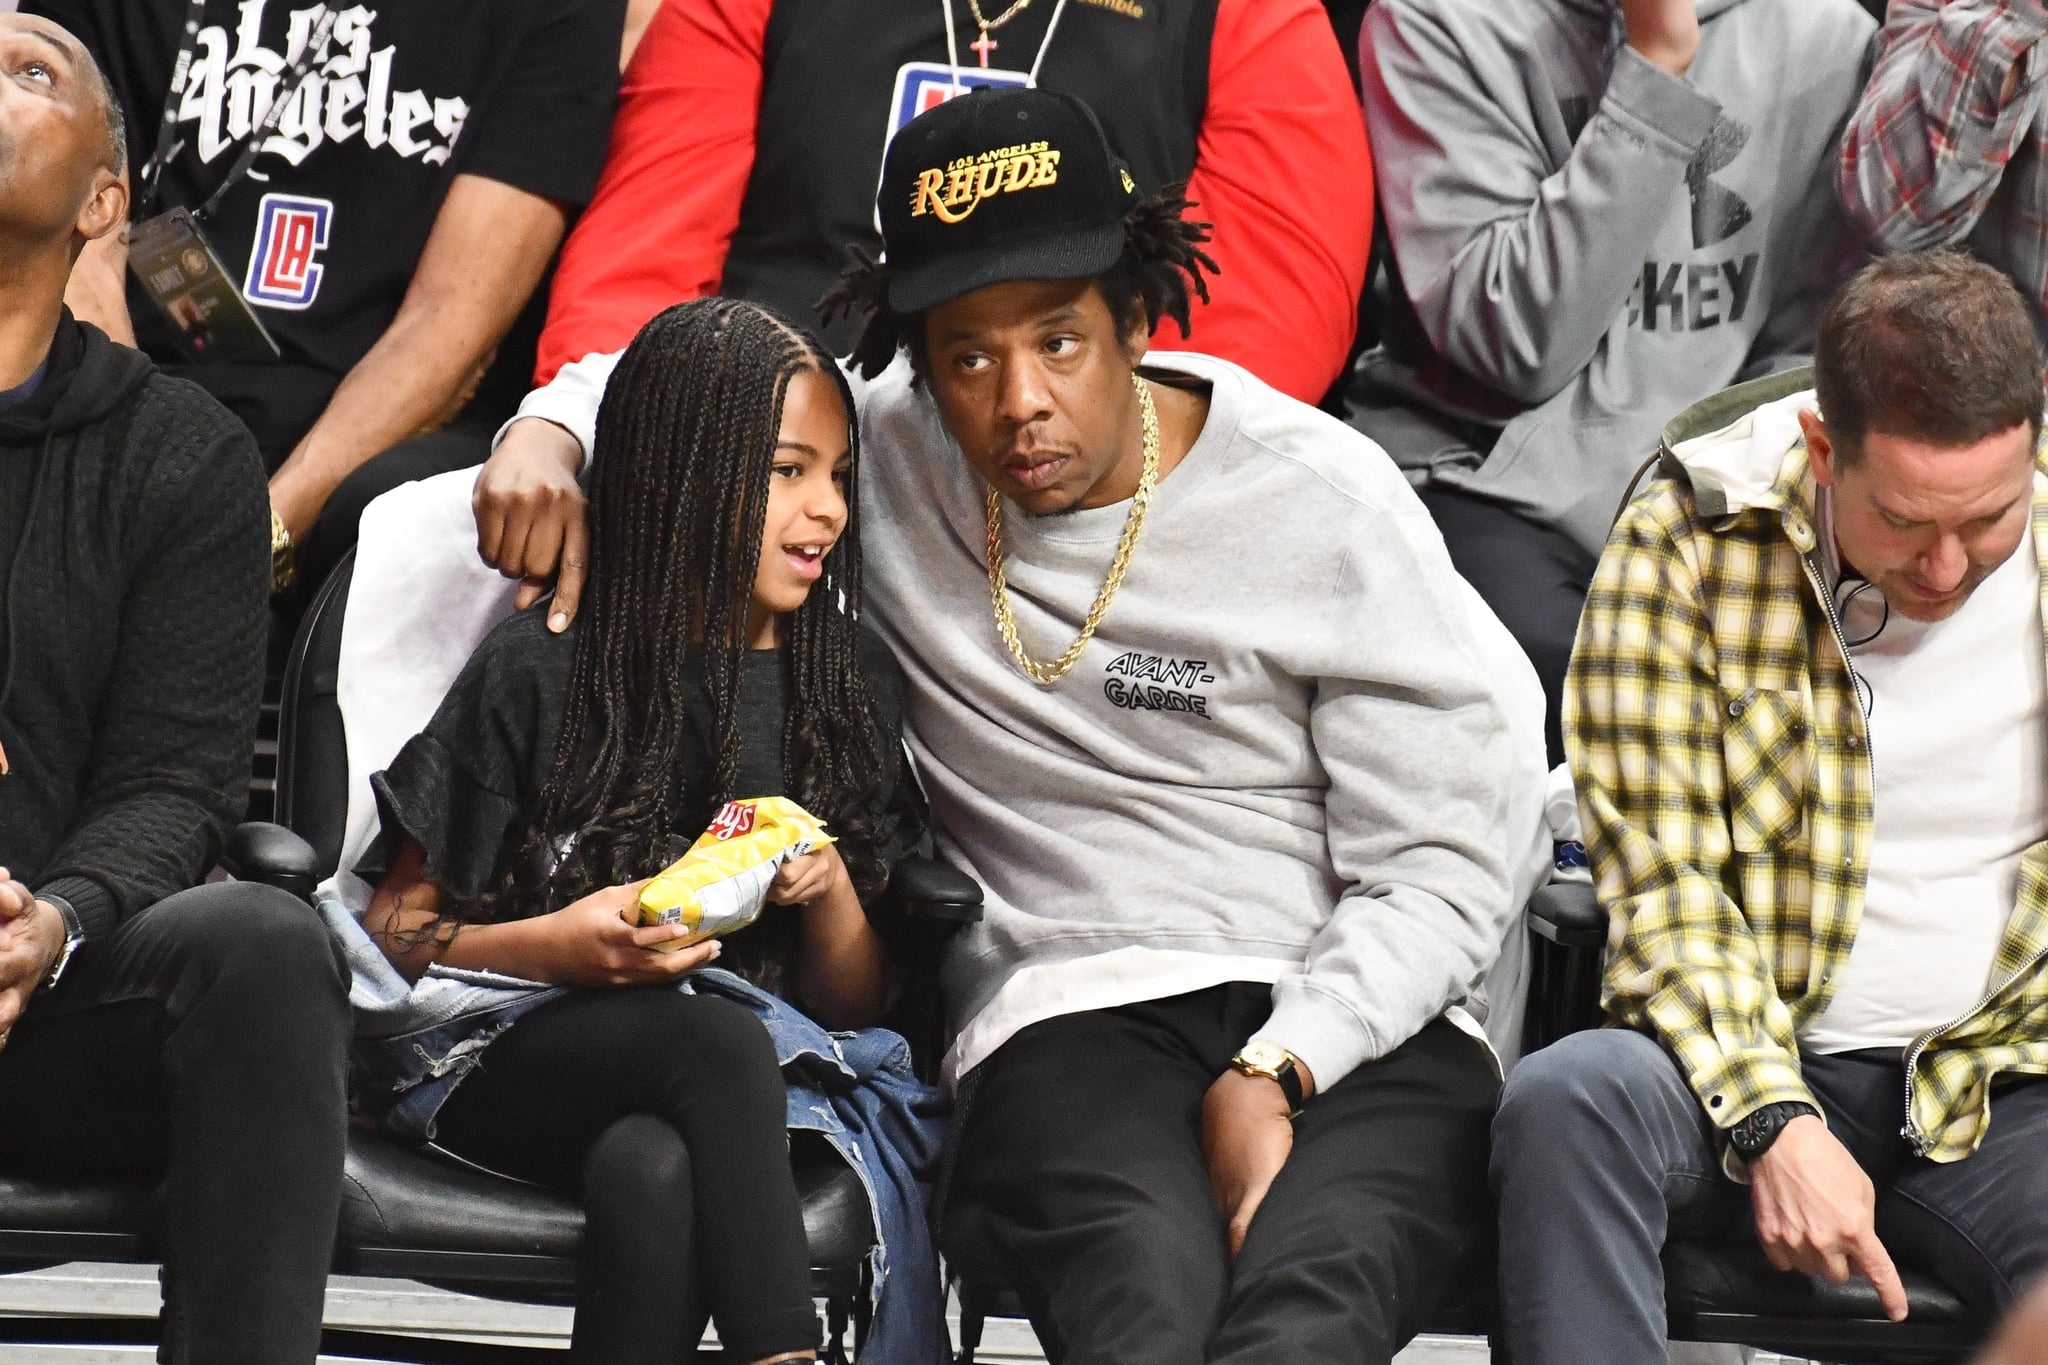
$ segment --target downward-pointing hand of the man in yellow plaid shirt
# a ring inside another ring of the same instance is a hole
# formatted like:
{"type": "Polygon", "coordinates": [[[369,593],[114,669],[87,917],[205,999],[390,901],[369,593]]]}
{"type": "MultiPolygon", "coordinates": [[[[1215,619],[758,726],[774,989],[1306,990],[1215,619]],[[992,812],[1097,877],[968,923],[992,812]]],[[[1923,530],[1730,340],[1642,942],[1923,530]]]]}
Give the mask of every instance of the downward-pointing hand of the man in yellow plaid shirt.
{"type": "Polygon", "coordinates": [[[1862,1275],[1892,1322],[1905,1320],[1907,1291],[1878,1242],[1876,1189],[1827,1124],[1810,1113],[1786,1124],[1749,1166],[1749,1201],[1772,1265],[1835,1285],[1862,1275]]]}

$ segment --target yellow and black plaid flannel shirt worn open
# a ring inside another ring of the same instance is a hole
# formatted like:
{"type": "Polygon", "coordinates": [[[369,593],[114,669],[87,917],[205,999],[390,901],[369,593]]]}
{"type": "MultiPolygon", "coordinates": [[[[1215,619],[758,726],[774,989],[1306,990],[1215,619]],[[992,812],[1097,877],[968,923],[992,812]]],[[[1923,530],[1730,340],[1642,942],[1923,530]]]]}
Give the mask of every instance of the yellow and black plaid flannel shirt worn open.
{"type": "MultiPolygon", "coordinates": [[[[1565,688],[1565,749],[1610,915],[1602,1005],[1671,1050],[1722,1130],[1767,1103],[1817,1103],[1796,1038],[1827,1007],[1864,909],[1870,733],[1825,600],[1812,487],[1804,444],[1745,510],[1716,505],[1714,489],[1696,497],[1681,477],[1653,483],[1608,538],[1565,688]]],[[[2048,612],[2040,465],[2032,530],[2048,612]]],[[[1901,1117],[1921,1154],[1968,1156],[1993,1076],[2048,1072],[2044,954],[2038,843],[1995,988],[1905,1054],[1901,1117]]]]}

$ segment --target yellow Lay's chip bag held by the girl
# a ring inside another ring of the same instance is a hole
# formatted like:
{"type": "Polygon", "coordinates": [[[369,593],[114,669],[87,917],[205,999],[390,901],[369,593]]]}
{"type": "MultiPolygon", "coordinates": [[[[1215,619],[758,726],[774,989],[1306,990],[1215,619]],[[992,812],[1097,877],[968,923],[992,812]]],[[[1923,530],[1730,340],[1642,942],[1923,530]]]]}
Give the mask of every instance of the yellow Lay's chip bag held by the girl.
{"type": "Polygon", "coordinates": [[[729,800],[690,851],[641,888],[639,923],[682,929],[682,937],[657,943],[659,952],[745,929],[782,864],[827,843],[836,839],[825,825],[784,796],[729,800]]]}

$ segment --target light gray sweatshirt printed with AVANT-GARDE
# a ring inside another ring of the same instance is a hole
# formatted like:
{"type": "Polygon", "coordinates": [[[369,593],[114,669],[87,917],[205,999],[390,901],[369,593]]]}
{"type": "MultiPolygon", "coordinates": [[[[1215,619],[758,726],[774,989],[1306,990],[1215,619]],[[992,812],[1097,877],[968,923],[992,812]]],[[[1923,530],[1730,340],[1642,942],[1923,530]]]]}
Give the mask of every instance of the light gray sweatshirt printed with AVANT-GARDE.
{"type": "MultiPolygon", "coordinates": [[[[520,415],[588,452],[614,364],[520,415]]],[[[1257,1038],[1331,1087],[1468,999],[1518,923],[1548,862],[1542,688],[1372,442],[1225,360],[1149,368],[1210,385],[1208,420],[1053,688],[995,634],[985,485],[909,364],[860,391],[868,610],[940,851],[985,888],[944,968],[948,1072],[1034,1019],[1260,980],[1257,1038]]],[[[1036,657],[1079,632],[1126,512],[1010,510],[1036,657]]]]}

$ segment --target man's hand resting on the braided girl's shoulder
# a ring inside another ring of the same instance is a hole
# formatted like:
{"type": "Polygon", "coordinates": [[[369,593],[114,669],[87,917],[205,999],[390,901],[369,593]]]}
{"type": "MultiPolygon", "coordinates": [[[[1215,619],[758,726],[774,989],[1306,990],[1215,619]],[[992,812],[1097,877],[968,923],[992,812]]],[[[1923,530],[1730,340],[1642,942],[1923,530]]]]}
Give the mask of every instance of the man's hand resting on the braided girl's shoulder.
{"type": "Polygon", "coordinates": [[[584,448],[543,417],[512,424],[477,473],[477,555],[508,579],[522,579],[514,604],[530,608],[555,581],[547,628],[569,628],[590,563],[588,501],[575,481],[584,448]],[[557,577],[559,571],[559,577],[557,577]]]}

